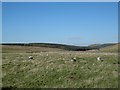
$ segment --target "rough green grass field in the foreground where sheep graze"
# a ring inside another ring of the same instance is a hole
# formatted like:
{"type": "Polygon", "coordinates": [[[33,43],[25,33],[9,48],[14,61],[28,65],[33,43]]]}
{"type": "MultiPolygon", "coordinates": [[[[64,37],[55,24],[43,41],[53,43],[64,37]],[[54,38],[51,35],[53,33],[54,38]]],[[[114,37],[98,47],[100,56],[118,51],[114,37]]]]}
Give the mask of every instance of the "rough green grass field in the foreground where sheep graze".
{"type": "Polygon", "coordinates": [[[26,53],[14,50],[2,53],[2,71],[3,87],[117,88],[118,54],[62,50],[26,53]],[[33,59],[28,58],[30,55],[33,59]],[[98,56],[103,61],[97,61],[98,56]],[[71,61],[74,57],[75,62],[71,61]]]}

